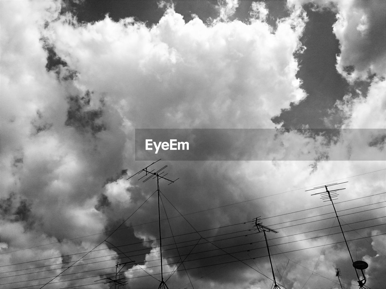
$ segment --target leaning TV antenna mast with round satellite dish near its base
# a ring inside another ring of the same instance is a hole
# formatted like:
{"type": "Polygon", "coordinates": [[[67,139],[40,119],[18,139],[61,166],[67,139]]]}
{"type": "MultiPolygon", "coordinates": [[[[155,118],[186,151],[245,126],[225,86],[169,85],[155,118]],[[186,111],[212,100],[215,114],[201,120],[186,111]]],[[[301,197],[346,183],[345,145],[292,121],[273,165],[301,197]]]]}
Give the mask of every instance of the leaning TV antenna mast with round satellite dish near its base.
{"type": "Polygon", "coordinates": [[[315,187],[313,189],[306,190],[305,192],[312,191],[312,190],[317,190],[317,189],[320,189],[320,188],[325,188],[326,189],[325,192],[315,193],[315,194],[312,194],[312,196],[320,195],[320,198],[322,200],[324,200],[323,202],[331,201],[332,207],[334,208],[334,212],[335,212],[335,215],[336,215],[338,223],[339,223],[340,230],[342,231],[344,242],[346,243],[347,250],[349,251],[349,254],[350,254],[350,258],[351,258],[351,261],[352,261],[352,266],[355,268],[355,273],[357,274],[357,277],[358,277],[359,288],[369,288],[369,287],[365,286],[366,277],[364,276],[364,273],[363,273],[363,270],[366,269],[367,267],[369,267],[369,265],[366,262],[361,261],[361,260],[354,262],[354,259],[352,259],[350,248],[349,248],[349,245],[347,244],[347,240],[346,240],[346,237],[344,235],[344,232],[343,232],[343,229],[342,229],[342,225],[340,224],[339,217],[338,217],[338,214],[337,214],[337,210],[335,209],[334,202],[333,202],[334,200],[337,200],[338,195],[339,195],[336,192],[340,191],[340,190],[345,190],[345,188],[335,189],[335,190],[330,190],[330,191],[327,188],[327,187],[331,187],[331,186],[335,186],[335,185],[340,185],[340,184],[344,184],[344,183],[348,183],[348,181],[344,181],[343,183],[333,183],[333,184],[329,184],[329,185],[315,187]],[[359,278],[357,270],[361,270],[362,271],[362,276],[363,276],[362,280],[361,280],[361,278],[359,278]]]}

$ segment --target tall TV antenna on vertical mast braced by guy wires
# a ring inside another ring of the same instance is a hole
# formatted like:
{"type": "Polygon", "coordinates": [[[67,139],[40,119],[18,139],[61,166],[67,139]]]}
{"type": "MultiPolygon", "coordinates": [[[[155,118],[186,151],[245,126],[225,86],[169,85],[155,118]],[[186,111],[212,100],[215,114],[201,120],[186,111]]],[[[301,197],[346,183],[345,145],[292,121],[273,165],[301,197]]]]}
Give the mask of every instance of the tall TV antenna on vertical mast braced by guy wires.
{"type": "MultiPolygon", "coordinates": [[[[161,159],[159,159],[158,161],[160,161],[161,159]]],[[[133,176],[135,175],[139,175],[141,174],[142,172],[144,172],[145,174],[143,176],[141,176],[141,178],[139,178],[138,180],[141,180],[142,178],[146,177],[144,180],[142,180],[142,182],[144,183],[145,181],[148,181],[150,179],[157,179],[157,194],[158,194],[158,227],[159,227],[159,253],[160,253],[160,259],[161,259],[161,283],[159,284],[158,286],[158,289],[161,289],[161,288],[167,288],[169,289],[169,287],[166,285],[166,282],[164,281],[164,276],[163,276],[163,268],[162,268],[162,238],[161,238],[161,217],[160,217],[160,212],[159,212],[159,180],[160,179],[164,179],[164,180],[167,180],[169,181],[170,183],[168,183],[168,185],[170,185],[171,183],[174,183],[176,180],[178,180],[178,178],[174,181],[172,180],[169,180],[168,178],[165,178],[165,176],[167,175],[167,173],[165,173],[163,170],[167,167],[167,166],[163,166],[162,168],[160,168],[159,170],[157,171],[154,171],[154,170],[151,170],[149,171],[148,168],[149,166],[151,165],[154,165],[157,161],[155,161],[154,163],[151,163],[150,165],[148,165],[147,167],[143,168],[142,170],[138,171],[137,173],[135,173],[134,175],[130,176],[130,178],[132,178],[133,176]]],[[[129,180],[130,178],[128,178],[127,180],[129,180]]]]}

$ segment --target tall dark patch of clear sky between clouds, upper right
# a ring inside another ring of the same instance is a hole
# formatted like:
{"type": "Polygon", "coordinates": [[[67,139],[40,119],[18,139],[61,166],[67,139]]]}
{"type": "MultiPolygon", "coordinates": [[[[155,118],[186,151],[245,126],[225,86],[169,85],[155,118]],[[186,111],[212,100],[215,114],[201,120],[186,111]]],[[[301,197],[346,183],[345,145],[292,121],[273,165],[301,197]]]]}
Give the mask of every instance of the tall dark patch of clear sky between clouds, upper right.
{"type": "MultiPolygon", "coordinates": [[[[307,97],[299,104],[290,104],[281,114],[272,118],[274,123],[283,122],[284,128],[334,128],[342,124],[339,111],[334,108],[337,100],[346,94],[353,97],[366,95],[371,81],[357,81],[354,86],[336,70],[336,55],[340,54],[339,41],[332,32],[336,22],[335,12],[317,9],[312,4],[304,5],[308,22],[300,41],[306,47],[296,55],[299,71],[296,77],[302,80],[301,87],[307,97]],[[330,112],[329,112],[330,110],[330,112]]],[[[350,69],[350,67],[347,67],[350,69]]]]}

